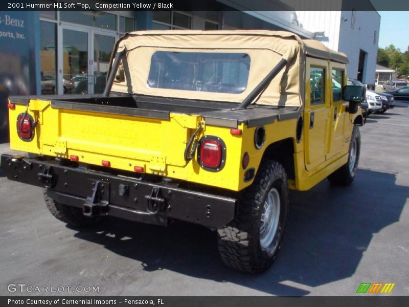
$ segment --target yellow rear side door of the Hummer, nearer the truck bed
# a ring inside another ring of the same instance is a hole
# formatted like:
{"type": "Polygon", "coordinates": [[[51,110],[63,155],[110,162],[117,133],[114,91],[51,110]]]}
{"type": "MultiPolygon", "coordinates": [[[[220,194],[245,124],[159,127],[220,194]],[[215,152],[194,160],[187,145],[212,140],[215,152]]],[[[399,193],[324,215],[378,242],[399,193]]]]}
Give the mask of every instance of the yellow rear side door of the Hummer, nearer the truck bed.
{"type": "Polygon", "coordinates": [[[305,86],[305,168],[310,171],[325,166],[332,119],[328,61],[306,59],[305,86]],[[320,166],[321,165],[321,166],[320,166]]]}

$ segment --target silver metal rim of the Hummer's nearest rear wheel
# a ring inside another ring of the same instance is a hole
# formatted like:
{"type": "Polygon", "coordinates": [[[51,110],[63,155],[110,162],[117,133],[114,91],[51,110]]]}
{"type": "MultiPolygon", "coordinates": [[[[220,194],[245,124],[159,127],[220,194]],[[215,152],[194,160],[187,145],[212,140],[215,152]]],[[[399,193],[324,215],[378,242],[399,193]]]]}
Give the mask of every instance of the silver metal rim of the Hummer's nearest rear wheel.
{"type": "Polygon", "coordinates": [[[276,188],[271,188],[264,201],[260,220],[260,246],[269,249],[277,246],[275,240],[280,220],[280,194],[276,188]]]}

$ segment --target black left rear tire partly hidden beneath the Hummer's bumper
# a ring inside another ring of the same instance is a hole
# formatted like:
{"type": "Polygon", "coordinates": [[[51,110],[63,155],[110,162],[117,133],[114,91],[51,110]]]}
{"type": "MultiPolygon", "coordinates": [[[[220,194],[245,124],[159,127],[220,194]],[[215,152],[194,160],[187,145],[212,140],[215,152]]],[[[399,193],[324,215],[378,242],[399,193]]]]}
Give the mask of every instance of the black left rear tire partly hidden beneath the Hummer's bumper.
{"type": "Polygon", "coordinates": [[[101,221],[101,217],[87,217],[82,214],[82,210],[77,207],[64,205],[54,201],[47,195],[47,189],[44,189],[44,201],[48,210],[58,220],[73,225],[75,227],[87,227],[101,221]]]}

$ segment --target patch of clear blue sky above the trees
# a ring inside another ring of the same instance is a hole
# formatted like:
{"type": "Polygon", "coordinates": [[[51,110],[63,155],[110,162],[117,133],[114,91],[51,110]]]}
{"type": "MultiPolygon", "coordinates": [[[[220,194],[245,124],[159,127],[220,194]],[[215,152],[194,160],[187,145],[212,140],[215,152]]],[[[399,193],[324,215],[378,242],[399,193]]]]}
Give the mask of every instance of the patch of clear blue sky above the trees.
{"type": "MultiPolygon", "coordinates": [[[[407,1],[407,0],[404,0],[407,1]]],[[[409,45],[409,12],[378,12],[380,15],[379,48],[395,45],[402,52],[409,45]]]]}

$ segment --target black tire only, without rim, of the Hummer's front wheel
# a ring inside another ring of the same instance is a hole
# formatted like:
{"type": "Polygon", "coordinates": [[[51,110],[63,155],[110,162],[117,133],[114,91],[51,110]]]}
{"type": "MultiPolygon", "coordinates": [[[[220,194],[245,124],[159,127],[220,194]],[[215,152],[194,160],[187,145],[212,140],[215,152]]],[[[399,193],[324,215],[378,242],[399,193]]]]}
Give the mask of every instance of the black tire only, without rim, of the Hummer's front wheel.
{"type": "Polygon", "coordinates": [[[332,185],[349,186],[354,181],[354,178],[356,176],[356,170],[358,168],[358,163],[359,163],[360,146],[361,146],[361,137],[359,133],[359,128],[358,126],[354,126],[354,129],[352,131],[352,136],[351,136],[351,142],[350,142],[349,150],[348,150],[348,162],[344,164],[342,167],[338,168],[332,174],[330,174],[330,176],[328,176],[328,181],[332,185]],[[351,145],[354,140],[356,140],[356,159],[355,159],[355,165],[354,165],[353,171],[351,172],[349,169],[349,163],[350,163],[350,158],[351,158],[350,157],[351,145]]]}

